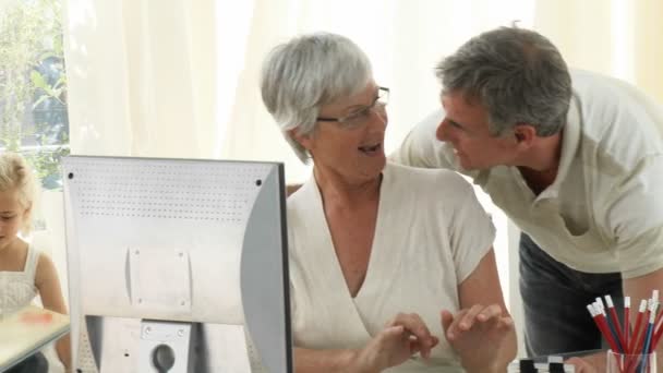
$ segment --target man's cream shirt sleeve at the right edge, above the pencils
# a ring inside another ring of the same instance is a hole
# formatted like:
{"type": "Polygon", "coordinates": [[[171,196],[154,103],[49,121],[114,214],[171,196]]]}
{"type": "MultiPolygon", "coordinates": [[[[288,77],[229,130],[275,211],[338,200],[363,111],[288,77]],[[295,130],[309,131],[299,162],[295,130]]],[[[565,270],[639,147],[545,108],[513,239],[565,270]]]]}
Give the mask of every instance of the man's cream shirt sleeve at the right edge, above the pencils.
{"type": "Polygon", "coordinates": [[[615,189],[608,225],[624,278],[663,268],[663,156],[644,158],[615,189]]]}

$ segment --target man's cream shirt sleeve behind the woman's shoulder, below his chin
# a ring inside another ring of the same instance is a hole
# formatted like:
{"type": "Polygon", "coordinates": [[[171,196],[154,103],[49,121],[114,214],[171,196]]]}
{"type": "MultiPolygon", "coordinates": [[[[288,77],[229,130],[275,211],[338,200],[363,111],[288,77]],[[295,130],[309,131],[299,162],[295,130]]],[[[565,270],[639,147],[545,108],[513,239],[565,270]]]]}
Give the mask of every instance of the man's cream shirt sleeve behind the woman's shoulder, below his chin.
{"type": "Polygon", "coordinates": [[[389,159],[411,167],[455,169],[453,149],[435,136],[443,119],[442,109],[430,113],[414,125],[400,147],[389,155],[389,159]]]}

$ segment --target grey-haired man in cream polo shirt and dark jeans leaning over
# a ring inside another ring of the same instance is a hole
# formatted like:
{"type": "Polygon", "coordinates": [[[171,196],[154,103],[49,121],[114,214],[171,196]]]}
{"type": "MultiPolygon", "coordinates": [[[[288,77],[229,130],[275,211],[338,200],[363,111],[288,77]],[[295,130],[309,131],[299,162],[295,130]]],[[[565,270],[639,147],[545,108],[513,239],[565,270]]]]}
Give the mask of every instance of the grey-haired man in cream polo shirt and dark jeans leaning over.
{"type": "Polygon", "coordinates": [[[436,74],[443,108],[391,159],[471,177],[522,230],[529,354],[599,348],[587,304],[663,290],[663,107],[620,81],[569,73],[555,46],[521,28],[470,39],[436,74]]]}

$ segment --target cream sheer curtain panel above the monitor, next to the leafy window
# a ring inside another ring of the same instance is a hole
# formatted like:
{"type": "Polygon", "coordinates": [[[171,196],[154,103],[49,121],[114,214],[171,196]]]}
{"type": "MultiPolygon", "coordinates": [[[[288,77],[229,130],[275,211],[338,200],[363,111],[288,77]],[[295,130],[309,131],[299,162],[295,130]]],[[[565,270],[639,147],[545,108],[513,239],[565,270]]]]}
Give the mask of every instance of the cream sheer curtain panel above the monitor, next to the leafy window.
{"type": "Polygon", "coordinates": [[[72,153],[214,156],[215,22],[213,2],[69,0],[72,153]]]}

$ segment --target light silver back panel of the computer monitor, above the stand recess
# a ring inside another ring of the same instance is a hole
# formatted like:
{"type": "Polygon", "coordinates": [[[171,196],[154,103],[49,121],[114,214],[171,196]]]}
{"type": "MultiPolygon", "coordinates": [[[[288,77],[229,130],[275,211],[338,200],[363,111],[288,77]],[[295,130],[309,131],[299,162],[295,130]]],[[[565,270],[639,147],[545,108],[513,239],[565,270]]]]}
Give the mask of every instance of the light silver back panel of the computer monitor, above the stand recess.
{"type": "Polygon", "coordinates": [[[282,171],[274,163],[63,159],[75,342],[87,339],[86,316],[248,324],[265,363],[288,371],[282,171]]]}

